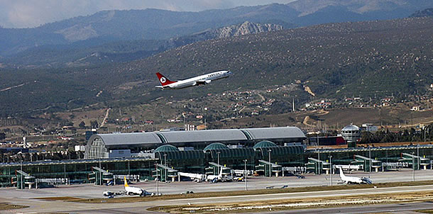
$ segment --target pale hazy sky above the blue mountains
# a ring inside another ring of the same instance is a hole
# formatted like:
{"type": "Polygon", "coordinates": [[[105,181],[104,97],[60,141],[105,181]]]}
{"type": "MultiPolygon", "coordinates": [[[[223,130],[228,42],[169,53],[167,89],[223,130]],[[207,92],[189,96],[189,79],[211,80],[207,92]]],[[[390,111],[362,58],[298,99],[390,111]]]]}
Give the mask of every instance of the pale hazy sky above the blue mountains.
{"type": "Polygon", "coordinates": [[[0,26],[37,27],[44,23],[111,9],[204,11],[258,4],[286,4],[290,1],[294,0],[0,0],[0,26]]]}

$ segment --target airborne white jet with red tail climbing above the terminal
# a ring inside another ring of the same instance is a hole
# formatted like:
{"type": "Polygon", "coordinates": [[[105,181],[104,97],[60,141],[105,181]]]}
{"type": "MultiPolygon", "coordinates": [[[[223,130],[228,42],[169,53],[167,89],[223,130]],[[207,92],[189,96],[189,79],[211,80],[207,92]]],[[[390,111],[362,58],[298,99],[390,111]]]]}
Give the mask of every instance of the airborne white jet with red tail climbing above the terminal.
{"type": "Polygon", "coordinates": [[[213,72],[209,74],[203,74],[198,77],[192,77],[190,79],[170,81],[170,79],[167,79],[167,77],[164,77],[163,74],[160,74],[158,72],[156,73],[156,76],[158,76],[161,85],[155,87],[160,89],[183,89],[190,86],[209,84],[211,83],[211,81],[227,78],[231,74],[233,73],[229,71],[219,71],[219,72],[213,72]]]}

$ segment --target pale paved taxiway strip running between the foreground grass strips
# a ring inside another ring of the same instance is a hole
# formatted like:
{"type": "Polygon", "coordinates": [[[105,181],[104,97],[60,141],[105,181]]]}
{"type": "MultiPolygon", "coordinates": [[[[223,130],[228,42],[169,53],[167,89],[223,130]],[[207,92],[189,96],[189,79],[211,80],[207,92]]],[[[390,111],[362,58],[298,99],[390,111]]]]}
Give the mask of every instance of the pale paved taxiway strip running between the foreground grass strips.
{"type": "MultiPolygon", "coordinates": [[[[275,201],[281,199],[327,198],[338,196],[371,195],[380,193],[409,193],[433,189],[427,186],[399,186],[392,188],[368,188],[338,191],[313,191],[303,193],[275,193],[250,196],[224,196],[215,198],[182,198],[166,201],[146,201],[137,203],[74,203],[65,201],[44,201],[37,199],[1,200],[4,202],[29,205],[29,208],[6,210],[6,213],[144,213],[146,209],[156,205],[194,205],[215,203],[236,203],[248,201],[275,201]]],[[[104,201],[104,199],[102,199],[104,201]]],[[[370,206],[368,206],[370,207],[370,206]]],[[[363,206],[365,208],[365,206],[363,206]]],[[[417,209],[417,208],[416,208],[417,209]]],[[[308,211],[308,210],[307,210],[308,211]]],[[[356,210],[357,212],[359,210],[356,210]]],[[[373,211],[376,212],[376,211],[373,211]]]]}

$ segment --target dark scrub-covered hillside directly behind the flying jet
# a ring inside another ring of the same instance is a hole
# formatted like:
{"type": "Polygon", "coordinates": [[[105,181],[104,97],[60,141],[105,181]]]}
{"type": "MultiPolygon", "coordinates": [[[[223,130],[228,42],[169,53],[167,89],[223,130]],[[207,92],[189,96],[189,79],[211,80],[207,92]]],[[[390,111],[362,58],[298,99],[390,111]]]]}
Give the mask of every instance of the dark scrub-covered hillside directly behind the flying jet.
{"type": "Polygon", "coordinates": [[[295,82],[318,98],[422,95],[433,83],[432,26],[433,18],[331,23],[207,40],[115,66],[2,69],[0,111],[131,106],[295,82]],[[155,72],[185,79],[218,69],[234,76],[192,89],[154,88],[155,72]]]}

